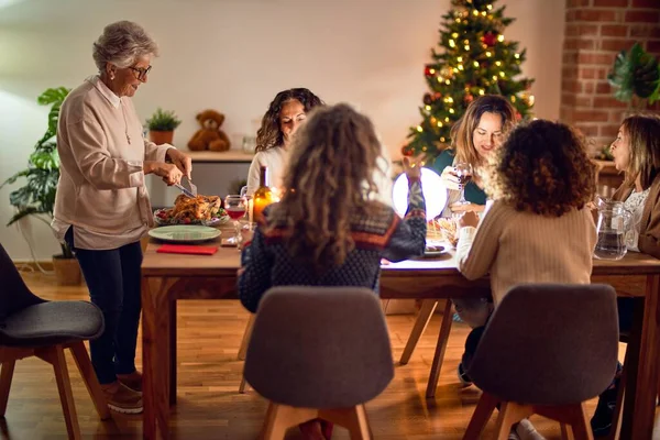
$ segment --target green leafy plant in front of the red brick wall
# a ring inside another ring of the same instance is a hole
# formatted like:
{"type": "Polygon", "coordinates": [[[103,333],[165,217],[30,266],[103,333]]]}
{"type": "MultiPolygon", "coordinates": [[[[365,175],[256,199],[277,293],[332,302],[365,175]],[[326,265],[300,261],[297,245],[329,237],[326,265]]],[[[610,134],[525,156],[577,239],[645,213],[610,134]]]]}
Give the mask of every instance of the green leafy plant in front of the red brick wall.
{"type": "Polygon", "coordinates": [[[614,97],[628,102],[631,111],[641,110],[660,99],[660,64],[639,43],[616,56],[607,79],[616,89],[614,97]]]}

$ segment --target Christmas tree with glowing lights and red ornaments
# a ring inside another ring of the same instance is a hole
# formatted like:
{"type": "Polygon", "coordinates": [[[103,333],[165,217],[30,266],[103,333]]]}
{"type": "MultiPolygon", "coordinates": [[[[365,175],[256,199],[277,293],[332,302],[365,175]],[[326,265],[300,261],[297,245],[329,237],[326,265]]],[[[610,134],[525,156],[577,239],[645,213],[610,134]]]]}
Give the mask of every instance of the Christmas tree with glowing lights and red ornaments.
{"type": "Polygon", "coordinates": [[[452,0],[453,9],[440,24],[441,53],[431,51],[433,62],[424,74],[429,91],[419,111],[421,123],[410,128],[406,156],[422,155],[432,161],[451,143],[450,130],[465,109],[482,95],[507,97],[520,118],[534,106],[529,88],[534,79],[516,78],[525,61],[525,50],[507,41],[504,29],[514,19],[505,18],[505,7],[495,9],[497,0],[452,0]]]}

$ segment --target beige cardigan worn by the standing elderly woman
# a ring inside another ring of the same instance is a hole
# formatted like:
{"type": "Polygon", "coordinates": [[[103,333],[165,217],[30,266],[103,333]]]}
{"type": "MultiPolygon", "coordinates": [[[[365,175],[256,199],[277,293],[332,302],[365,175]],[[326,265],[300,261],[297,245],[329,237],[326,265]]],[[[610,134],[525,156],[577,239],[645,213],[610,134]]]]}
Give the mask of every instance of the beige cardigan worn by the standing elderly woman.
{"type": "Polygon", "coordinates": [[[69,226],[80,249],[117,249],[153,226],[143,161],[165,161],[172,145],[143,138],[133,102],[98,77],[73,90],[59,111],[61,169],[53,228],[62,241],[69,226]]]}

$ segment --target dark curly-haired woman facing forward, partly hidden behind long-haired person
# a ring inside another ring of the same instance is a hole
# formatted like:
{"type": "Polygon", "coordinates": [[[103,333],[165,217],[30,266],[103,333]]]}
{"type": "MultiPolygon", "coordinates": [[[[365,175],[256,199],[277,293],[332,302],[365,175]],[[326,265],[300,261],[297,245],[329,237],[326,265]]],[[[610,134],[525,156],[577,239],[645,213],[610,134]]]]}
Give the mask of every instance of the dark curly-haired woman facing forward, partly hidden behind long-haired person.
{"type": "Polygon", "coordinates": [[[256,132],[256,154],[248,172],[248,195],[258,188],[260,169],[268,169],[268,185],[279,187],[288,146],[307,113],[323,101],[306,88],[283,90],[275,96],[256,132]]]}

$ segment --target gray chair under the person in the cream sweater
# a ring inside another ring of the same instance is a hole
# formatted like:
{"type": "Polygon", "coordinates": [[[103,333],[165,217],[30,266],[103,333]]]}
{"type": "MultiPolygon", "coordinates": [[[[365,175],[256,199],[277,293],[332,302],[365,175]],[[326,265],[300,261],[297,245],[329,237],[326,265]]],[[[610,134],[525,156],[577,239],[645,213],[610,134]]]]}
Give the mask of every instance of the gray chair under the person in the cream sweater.
{"type": "Polygon", "coordinates": [[[480,439],[499,404],[496,437],[538,414],[592,439],[584,402],[612,383],[616,294],[606,285],[520,285],[493,314],[468,374],[482,391],[464,439],[480,439]]]}

